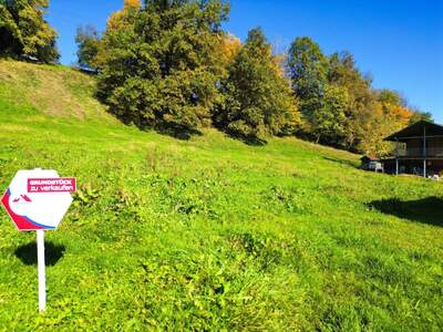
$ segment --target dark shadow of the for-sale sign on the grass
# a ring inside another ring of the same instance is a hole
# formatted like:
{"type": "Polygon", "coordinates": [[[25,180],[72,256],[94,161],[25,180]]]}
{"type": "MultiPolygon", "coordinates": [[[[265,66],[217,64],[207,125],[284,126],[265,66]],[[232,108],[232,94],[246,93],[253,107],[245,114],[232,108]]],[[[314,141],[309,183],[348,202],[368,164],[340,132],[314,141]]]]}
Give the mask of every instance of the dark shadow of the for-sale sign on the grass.
{"type": "MultiPolygon", "coordinates": [[[[44,260],[47,267],[53,267],[63,257],[66,248],[63,245],[52,242],[44,243],[44,260]]],[[[37,243],[35,241],[20,246],[14,255],[27,266],[37,266],[37,243]]]]}

